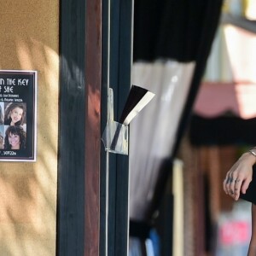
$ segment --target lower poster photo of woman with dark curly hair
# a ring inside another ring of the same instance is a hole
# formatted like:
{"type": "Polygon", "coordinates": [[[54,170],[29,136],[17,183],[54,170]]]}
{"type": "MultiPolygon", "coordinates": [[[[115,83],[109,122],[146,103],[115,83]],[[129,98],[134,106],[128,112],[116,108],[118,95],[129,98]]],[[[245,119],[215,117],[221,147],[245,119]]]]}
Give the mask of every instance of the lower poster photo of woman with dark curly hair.
{"type": "Polygon", "coordinates": [[[21,126],[10,125],[5,131],[4,149],[25,149],[26,131],[21,126]]]}

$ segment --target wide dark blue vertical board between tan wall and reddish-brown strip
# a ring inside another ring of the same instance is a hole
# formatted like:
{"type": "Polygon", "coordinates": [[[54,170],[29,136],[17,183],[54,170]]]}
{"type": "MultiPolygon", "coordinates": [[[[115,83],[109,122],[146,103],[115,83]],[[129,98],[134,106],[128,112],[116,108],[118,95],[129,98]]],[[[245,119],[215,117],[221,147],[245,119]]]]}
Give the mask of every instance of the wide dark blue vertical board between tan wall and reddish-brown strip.
{"type": "Polygon", "coordinates": [[[60,137],[57,245],[60,256],[84,254],[85,1],[63,0],[60,26],[60,137]]]}

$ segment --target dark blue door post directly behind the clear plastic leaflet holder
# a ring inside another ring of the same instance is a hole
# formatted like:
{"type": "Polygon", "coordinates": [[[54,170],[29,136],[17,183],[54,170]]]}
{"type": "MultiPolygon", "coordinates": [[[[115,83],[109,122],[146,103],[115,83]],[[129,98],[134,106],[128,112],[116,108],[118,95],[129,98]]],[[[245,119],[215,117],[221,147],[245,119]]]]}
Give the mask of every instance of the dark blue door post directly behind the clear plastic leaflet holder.
{"type": "MultiPolygon", "coordinates": [[[[131,88],[133,1],[110,1],[109,84],[118,120],[131,88]]],[[[109,154],[108,255],[128,254],[129,158],[109,154]]]]}

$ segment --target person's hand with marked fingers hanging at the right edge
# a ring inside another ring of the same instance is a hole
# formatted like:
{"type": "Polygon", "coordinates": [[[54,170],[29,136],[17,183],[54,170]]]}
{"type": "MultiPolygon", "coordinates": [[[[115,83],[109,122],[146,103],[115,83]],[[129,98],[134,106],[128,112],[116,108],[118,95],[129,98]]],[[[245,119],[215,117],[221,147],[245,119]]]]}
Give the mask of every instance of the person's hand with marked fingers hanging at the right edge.
{"type": "Polygon", "coordinates": [[[251,153],[242,154],[226,174],[223,182],[224,191],[236,201],[239,199],[240,193],[246,193],[252,181],[255,160],[256,157],[251,153]]]}

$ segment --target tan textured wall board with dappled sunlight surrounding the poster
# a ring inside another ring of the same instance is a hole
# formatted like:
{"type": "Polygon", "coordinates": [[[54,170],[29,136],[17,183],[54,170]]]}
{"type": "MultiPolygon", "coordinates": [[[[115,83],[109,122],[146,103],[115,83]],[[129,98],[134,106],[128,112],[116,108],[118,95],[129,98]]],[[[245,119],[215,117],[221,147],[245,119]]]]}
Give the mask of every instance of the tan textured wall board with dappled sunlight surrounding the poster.
{"type": "Polygon", "coordinates": [[[0,162],[0,255],[55,255],[59,1],[3,0],[0,69],[38,71],[37,161],[0,162]]]}

